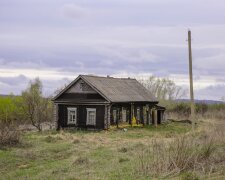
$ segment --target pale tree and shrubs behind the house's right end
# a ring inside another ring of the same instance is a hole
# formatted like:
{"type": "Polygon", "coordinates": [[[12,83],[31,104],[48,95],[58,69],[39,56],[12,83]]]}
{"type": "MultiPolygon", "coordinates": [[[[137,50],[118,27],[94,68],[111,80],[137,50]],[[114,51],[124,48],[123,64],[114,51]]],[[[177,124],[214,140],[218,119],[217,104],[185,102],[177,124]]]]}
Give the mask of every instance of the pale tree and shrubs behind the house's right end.
{"type": "MultiPolygon", "coordinates": [[[[177,86],[174,81],[150,76],[148,79],[139,79],[139,82],[158,98],[161,105],[166,107],[169,118],[189,118],[190,103],[176,101],[176,99],[183,98],[187,91],[177,86]]],[[[224,100],[224,97],[221,100],[224,100]]],[[[225,119],[225,103],[222,102],[220,104],[197,103],[195,111],[197,118],[225,119]]]]}

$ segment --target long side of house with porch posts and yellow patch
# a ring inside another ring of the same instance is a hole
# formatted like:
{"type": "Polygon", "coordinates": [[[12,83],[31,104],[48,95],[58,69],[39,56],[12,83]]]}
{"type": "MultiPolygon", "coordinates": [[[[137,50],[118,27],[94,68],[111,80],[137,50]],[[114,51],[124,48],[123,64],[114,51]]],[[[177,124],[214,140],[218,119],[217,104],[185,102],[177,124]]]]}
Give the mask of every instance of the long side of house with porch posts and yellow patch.
{"type": "Polygon", "coordinates": [[[157,126],[165,121],[164,112],[154,103],[115,103],[107,108],[107,127],[157,126]]]}

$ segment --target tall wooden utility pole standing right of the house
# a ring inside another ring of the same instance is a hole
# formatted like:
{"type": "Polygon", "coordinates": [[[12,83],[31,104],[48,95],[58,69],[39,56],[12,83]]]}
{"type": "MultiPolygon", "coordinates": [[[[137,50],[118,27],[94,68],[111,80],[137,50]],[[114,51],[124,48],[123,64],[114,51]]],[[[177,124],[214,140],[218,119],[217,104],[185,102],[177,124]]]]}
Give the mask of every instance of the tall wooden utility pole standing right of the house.
{"type": "Polygon", "coordinates": [[[191,31],[188,30],[188,49],[189,49],[189,78],[190,78],[190,100],[191,100],[191,121],[192,128],[195,126],[195,102],[193,91],[193,74],[192,74],[192,51],[191,51],[191,31]]]}

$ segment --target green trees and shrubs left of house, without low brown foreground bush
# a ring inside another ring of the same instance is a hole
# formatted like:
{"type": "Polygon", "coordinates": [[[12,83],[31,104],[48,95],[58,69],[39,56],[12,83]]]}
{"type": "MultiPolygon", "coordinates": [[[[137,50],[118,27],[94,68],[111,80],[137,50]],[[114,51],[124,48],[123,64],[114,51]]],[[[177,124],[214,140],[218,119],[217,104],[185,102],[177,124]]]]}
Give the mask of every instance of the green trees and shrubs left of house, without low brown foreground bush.
{"type": "Polygon", "coordinates": [[[44,97],[39,78],[30,81],[21,96],[0,97],[1,124],[32,124],[38,131],[42,123],[52,123],[53,103],[51,97],[44,97]]]}

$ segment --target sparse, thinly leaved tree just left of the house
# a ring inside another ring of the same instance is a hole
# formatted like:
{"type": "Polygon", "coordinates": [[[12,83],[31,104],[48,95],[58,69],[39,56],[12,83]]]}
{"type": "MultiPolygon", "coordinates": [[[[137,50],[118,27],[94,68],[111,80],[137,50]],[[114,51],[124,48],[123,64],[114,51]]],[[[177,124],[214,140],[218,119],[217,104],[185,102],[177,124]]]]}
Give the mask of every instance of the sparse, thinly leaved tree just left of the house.
{"type": "Polygon", "coordinates": [[[28,88],[22,92],[22,98],[26,118],[41,131],[42,123],[51,120],[52,104],[48,98],[42,97],[42,83],[38,78],[30,82],[28,88]]]}

